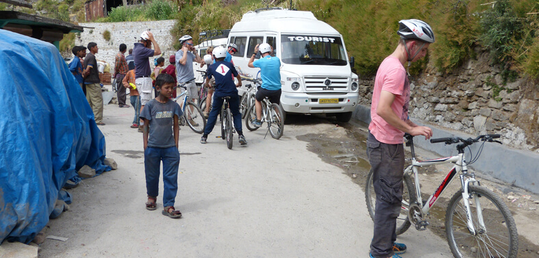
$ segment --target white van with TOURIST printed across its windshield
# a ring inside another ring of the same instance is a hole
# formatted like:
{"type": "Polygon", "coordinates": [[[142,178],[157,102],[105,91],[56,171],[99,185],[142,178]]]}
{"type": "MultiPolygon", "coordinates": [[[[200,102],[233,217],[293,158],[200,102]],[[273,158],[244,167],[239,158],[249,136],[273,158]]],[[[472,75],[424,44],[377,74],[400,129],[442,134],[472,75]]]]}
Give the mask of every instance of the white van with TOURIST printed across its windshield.
{"type": "Polygon", "coordinates": [[[247,66],[256,44],[273,46],[273,55],[281,60],[285,112],[350,120],[358,105],[358,75],[351,71],[342,36],[312,12],[281,8],[247,12],[230,30],[228,42],[238,45],[232,57],[238,73],[251,78],[260,77],[260,68],[247,66]]]}

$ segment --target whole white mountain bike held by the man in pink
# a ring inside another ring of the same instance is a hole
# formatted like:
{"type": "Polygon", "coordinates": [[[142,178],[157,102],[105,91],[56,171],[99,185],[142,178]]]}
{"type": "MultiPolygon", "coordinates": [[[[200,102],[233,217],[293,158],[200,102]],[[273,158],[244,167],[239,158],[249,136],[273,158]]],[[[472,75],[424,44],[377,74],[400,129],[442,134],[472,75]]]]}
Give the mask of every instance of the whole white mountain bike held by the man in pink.
{"type": "MultiPolygon", "coordinates": [[[[516,257],[518,233],[516,232],[516,224],[511,211],[499,196],[480,185],[473,172],[468,172],[466,159],[464,158],[464,149],[466,147],[482,141],[483,144],[479,147],[475,159],[468,163],[472,164],[481,155],[484,143],[498,142],[492,139],[500,138],[500,135],[488,134],[477,136],[475,139],[462,139],[459,137],[431,139],[431,143],[458,144],[458,155],[423,162],[416,161],[413,136],[406,133],[405,138],[407,139],[406,146],[410,146],[410,151],[412,152],[412,165],[404,170],[403,201],[401,213],[397,218],[397,235],[408,230],[411,224],[414,224],[417,230],[425,230],[429,225],[427,221],[429,210],[438,201],[438,197],[447,189],[447,185],[453,179],[458,178],[461,188],[449,201],[445,215],[445,231],[453,256],[457,258],[516,257]],[[436,191],[424,202],[421,198],[417,168],[450,162],[455,166],[451,168],[436,191]]],[[[499,143],[501,144],[501,142],[499,143]]],[[[365,199],[368,213],[374,220],[376,194],[373,186],[372,170],[367,176],[365,199]]]]}

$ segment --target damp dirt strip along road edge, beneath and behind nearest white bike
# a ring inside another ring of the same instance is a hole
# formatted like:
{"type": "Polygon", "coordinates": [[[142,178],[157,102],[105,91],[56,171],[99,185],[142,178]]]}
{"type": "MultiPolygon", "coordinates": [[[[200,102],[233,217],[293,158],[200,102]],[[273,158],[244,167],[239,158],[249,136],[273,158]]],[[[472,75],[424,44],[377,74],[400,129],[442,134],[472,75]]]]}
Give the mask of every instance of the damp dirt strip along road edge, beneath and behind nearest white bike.
{"type": "MultiPolygon", "coordinates": [[[[336,124],[338,127],[344,127],[347,135],[342,136],[333,133],[309,133],[304,136],[298,136],[298,140],[308,142],[308,149],[318,154],[323,161],[338,166],[344,170],[354,183],[360,185],[365,190],[366,177],[371,165],[366,157],[366,125],[361,122],[351,124],[336,124]]],[[[407,157],[410,157],[409,149],[405,148],[407,157]]],[[[440,157],[435,153],[416,148],[418,159],[434,159],[440,157]]],[[[409,163],[410,160],[407,159],[409,163]]],[[[436,167],[421,168],[419,172],[421,177],[421,191],[423,198],[427,198],[438,188],[438,185],[446,177],[451,165],[444,164],[436,167]]],[[[510,208],[516,227],[518,229],[518,257],[537,258],[539,257],[539,195],[533,194],[522,188],[516,188],[507,183],[476,172],[476,176],[481,181],[481,185],[486,186],[495,194],[501,196],[507,206],[510,208]]],[[[459,188],[458,183],[451,183],[444,195],[440,197],[435,208],[429,214],[429,229],[445,238],[445,210],[449,199],[459,188]]],[[[358,196],[364,198],[364,196],[358,196]]],[[[412,231],[412,227],[408,229],[412,231]]]]}

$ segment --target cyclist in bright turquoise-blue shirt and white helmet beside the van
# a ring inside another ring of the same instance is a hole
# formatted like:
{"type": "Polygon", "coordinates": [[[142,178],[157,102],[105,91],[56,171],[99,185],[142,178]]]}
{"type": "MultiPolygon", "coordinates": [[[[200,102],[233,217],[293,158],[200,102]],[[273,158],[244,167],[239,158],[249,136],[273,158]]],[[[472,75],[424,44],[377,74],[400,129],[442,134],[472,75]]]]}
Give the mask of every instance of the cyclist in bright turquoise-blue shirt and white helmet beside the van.
{"type": "Polygon", "coordinates": [[[268,97],[271,103],[279,105],[281,103],[281,60],[279,57],[271,56],[273,48],[268,43],[257,44],[255,53],[251,55],[248,66],[251,68],[260,68],[260,77],[262,78],[262,87],[255,95],[256,120],[253,122],[255,127],[261,127],[260,117],[262,116],[262,99],[268,97]],[[260,49],[262,58],[255,60],[255,56],[260,49]]]}

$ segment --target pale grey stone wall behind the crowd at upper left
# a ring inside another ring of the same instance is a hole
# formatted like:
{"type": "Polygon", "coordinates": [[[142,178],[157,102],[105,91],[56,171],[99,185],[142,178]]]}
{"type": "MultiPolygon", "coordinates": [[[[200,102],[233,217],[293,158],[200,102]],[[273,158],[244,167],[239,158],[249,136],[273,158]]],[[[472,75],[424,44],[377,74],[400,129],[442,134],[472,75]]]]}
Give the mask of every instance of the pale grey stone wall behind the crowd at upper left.
{"type": "MultiPolygon", "coordinates": [[[[177,39],[172,38],[171,29],[173,29],[175,20],[165,21],[138,21],[121,23],[80,23],[85,27],[84,32],[75,38],[75,45],[86,47],[89,42],[96,42],[99,52],[95,55],[97,60],[102,60],[110,65],[110,73],[114,73],[114,56],[119,51],[120,44],[127,45],[127,50],[132,49],[135,42],[140,39],[142,31],[148,29],[153,34],[155,41],[158,42],[165,57],[165,66],[168,65],[168,57],[177,50],[173,49],[173,44],[177,39]],[[92,27],[90,29],[88,27],[92,27]],[[109,31],[110,39],[105,40],[103,33],[109,31]]],[[[127,56],[127,52],[125,55],[127,56]]],[[[153,68],[153,59],[150,60],[153,68]]]]}

